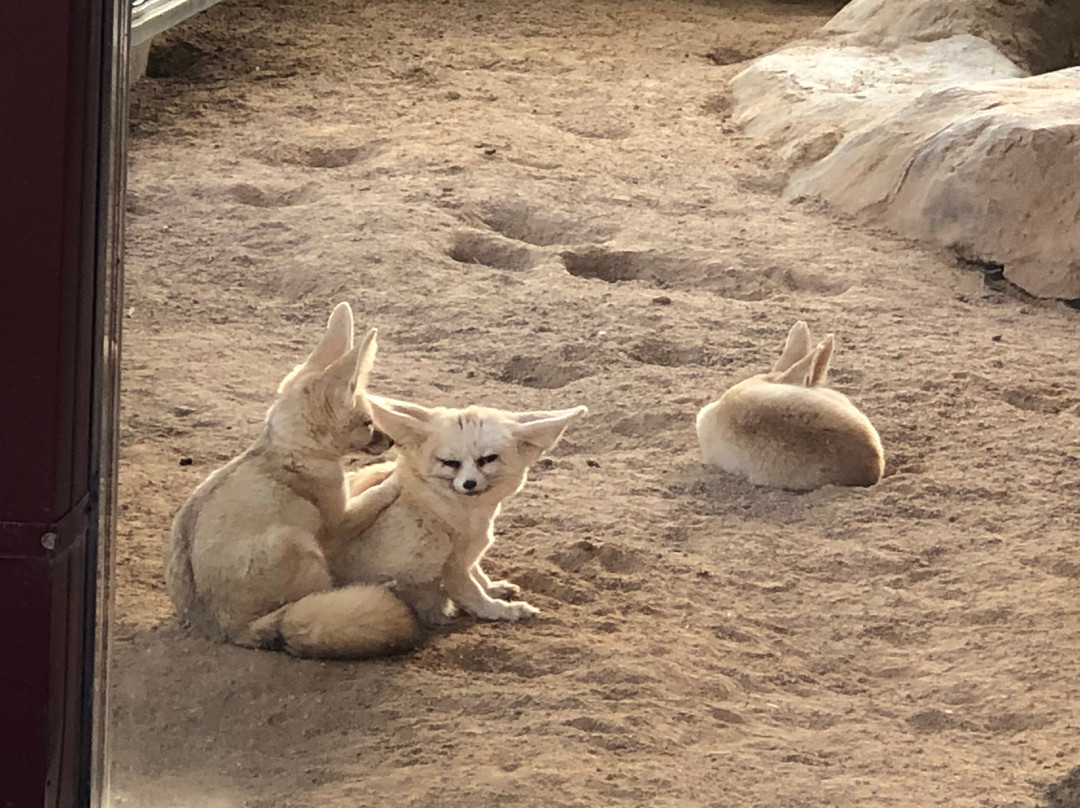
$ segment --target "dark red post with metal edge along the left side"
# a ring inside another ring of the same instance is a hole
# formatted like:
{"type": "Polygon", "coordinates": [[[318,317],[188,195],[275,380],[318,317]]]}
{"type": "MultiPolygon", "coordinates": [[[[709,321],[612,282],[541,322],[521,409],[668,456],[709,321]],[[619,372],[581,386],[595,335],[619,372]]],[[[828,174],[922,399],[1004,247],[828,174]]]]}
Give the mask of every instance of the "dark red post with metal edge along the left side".
{"type": "Polygon", "coordinates": [[[126,5],[0,2],[0,808],[100,782],[126,5]]]}

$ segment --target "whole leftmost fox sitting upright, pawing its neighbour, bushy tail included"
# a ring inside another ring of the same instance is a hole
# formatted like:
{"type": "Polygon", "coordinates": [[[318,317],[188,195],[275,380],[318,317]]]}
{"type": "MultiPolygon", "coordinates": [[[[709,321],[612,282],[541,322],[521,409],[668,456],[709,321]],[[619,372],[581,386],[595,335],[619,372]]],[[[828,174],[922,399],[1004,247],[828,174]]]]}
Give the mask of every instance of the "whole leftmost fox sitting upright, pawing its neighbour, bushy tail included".
{"type": "Polygon", "coordinates": [[[366,657],[419,639],[391,592],[335,589],[326,563],[335,530],[361,533],[396,495],[376,485],[348,498],[342,456],[390,446],[364,394],[375,331],[355,347],[352,332],[352,310],[339,304],[311,355],[281,382],[261,434],[176,514],[165,581],[195,631],[301,657],[366,657]]]}

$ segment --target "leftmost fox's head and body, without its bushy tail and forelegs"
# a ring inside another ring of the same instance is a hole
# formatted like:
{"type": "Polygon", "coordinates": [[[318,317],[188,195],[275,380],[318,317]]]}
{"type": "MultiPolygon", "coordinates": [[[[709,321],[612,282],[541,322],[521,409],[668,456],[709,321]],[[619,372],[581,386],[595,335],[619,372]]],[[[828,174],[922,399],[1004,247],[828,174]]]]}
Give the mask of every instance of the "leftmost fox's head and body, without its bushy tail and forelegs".
{"type": "Polygon", "coordinates": [[[261,434],[176,514],[165,582],[181,621],[199,633],[259,645],[255,621],[330,588],[324,542],[347,504],[341,458],[390,445],[364,394],[375,332],[354,347],[352,329],[341,304],[281,382],[261,434]]]}

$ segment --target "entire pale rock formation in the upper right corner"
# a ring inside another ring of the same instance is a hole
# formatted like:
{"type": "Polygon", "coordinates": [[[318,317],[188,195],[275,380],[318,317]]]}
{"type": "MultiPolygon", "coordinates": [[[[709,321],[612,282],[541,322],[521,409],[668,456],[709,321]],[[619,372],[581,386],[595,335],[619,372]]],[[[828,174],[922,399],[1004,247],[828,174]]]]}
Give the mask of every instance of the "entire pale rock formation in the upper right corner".
{"type": "Polygon", "coordinates": [[[1080,0],[852,0],[737,76],[732,117],[789,198],[1080,298],[1078,59],[1080,0]]]}

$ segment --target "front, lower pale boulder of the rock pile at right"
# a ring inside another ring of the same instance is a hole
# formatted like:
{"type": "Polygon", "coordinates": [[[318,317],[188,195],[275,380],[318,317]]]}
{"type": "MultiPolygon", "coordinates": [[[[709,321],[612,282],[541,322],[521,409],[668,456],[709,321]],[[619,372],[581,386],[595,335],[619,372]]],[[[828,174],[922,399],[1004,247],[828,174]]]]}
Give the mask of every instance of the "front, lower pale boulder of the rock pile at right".
{"type": "Polygon", "coordinates": [[[1080,298],[1080,68],[923,93],[796,174],[788,197],[1004,266],[1080,298]]]}

